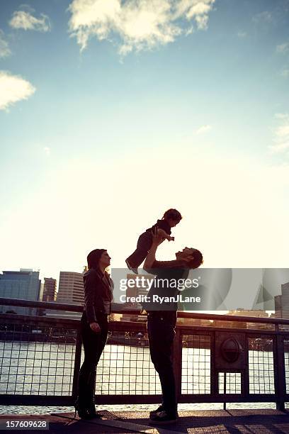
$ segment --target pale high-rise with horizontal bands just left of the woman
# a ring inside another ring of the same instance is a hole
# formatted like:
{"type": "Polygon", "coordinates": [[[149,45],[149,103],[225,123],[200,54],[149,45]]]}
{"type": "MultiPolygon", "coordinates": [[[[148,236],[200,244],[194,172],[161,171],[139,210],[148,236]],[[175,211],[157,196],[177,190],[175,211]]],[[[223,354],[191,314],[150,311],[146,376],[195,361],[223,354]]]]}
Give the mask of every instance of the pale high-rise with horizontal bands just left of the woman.
{"type": "Polygon", "coordinates": [[[84,304],[84,278],[82,273],[60,272],[57,303],[84,304]]]}

